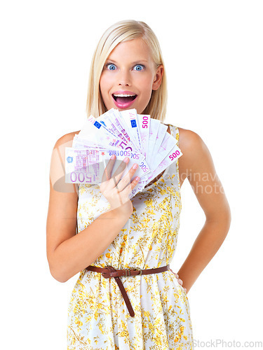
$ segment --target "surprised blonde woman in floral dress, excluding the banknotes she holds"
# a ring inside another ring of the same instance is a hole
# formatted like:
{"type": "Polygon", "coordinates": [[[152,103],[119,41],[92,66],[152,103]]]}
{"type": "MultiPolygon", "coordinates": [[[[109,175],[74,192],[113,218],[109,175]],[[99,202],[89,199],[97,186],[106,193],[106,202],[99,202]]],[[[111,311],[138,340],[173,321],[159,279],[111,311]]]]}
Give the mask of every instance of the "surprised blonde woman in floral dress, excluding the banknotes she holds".
{"type": "MultiPolygon", "coordinates": [[[[133,20],[109,27],[90,66],[88,116],[97,117],[112,108],[136,109],[163,122],[166,101],[166,71],[153,31],[133,20]]],[[[193,347],[187,291],[224,241],[230,210],[201,137],[170,124],[167,131],[175,137],[182,157],[131,200],[128,196],[140,181],[130,183],[137,169],[121,179],[123,172],[112,174],[113,158],[106,181],[78,188],[66,184],[63,177],[65,146],[72,145],[77,132],[55,144],[47,255],[50,272],[58,281],[80,272],[69,302],[70,350],[193,347]],[[180,188],[186,178],[206,220],[178,272],[182,288],[169,265],[175,255],[180,188]],[[110,272],[117,275],[113,278],[110,272]]],[[[121,167],[126,167],[125,162],[121,167]]]]}

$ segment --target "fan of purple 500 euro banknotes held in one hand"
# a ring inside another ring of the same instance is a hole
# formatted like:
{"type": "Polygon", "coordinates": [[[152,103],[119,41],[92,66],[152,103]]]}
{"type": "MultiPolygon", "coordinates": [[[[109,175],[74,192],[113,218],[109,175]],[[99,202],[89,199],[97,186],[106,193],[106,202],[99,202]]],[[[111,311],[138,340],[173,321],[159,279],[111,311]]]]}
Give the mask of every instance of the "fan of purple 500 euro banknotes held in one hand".
{"type": "Polygon", "coordinates": [[[137,114],[136,109],[109,109],[98,118],[90,116],[74,136],[72,147],[66,147],[66,183],[100,184],[112,155],[116,155],[112,174],[128,157],[121,179],[135,163],[139,165],[130,180],[140,176],[132,198],[182,155],[167,129],[160,120],[137,114]]]}

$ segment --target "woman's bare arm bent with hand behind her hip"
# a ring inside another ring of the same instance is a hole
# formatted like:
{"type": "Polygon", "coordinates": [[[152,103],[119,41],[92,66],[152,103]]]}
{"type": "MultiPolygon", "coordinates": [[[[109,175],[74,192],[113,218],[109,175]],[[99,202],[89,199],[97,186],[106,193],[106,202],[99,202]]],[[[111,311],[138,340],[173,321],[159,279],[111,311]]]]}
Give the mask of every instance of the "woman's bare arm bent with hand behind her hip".
{"type": "Polygon", "coordinates": [[[177,272],[184,288],[189,291],[227,236],[231,213],[210,152],[201,137],[190,130],[180,129],[180,148],[184,154],[179,160],[180,182],[185,178],[189,180],[205,213],[203,228],[177,272]]]}

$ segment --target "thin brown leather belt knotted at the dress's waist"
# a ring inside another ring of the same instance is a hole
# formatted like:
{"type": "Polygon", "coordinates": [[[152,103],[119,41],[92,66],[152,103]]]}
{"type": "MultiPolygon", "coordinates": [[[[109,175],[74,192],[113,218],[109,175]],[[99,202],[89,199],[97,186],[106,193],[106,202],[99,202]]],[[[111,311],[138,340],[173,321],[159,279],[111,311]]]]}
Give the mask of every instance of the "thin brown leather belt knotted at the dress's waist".
{"type": "Polygon", "coordinates": [[[137,276],[142,274],[159,274],[160,272],[167,271],[170,269],[170,265],[166,265],[163,267],[158,267],[157,269],[114,269],[112,266],[106,267],[97,267],[97,266],[88,266],[86,267],[89,271],[100,272],[105,279],[109,279],[110,277],[114,277],[115,281],[118,283],[118,286],[121,290],[121,294],[126,303],[130,316],[134,317],[133,307],[130,304],[130,300],[126,293],[125,288],[123,287],[123,283],[119,279],[119,276],[137,276]]]}

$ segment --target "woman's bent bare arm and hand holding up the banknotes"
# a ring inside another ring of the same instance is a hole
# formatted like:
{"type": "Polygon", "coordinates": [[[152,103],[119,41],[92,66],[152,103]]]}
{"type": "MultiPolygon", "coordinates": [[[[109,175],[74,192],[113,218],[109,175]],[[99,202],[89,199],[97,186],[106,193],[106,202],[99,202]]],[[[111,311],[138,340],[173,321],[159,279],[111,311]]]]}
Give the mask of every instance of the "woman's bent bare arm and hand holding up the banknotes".
{"type": "MultiPolygon", "coordinates": [[[[121,193],[115,193],[114,186],[110,187],[111,182],[104,182],[104,195],[105,197],[109,195],[112,209],[100,215],[86,229],[75,235],[78,194],[75,185],[65,183],[64,173],[65,146],[72,146],[73,137],[74,133],[67,134],[57,141],[50,165],[46,248],[50,273],[60,282],[67,281],[88,267],[112,243],[128,221],[133,209],[130,200],[126,202],[123,200],[123,204],[118,206],[116,196],[123,193],[128,195],[128,187],[130,186],[132,190],[137,184],[133,181],[121,193]]],[[[121,181],[124,183],[126,179],[127,182],[128,176],[131,178],[135,171],[135,169],[130,169],[130,172],[121,181]]],[[[118,184],[119,189],[121,189],[121,181],[118,184]]]]}

